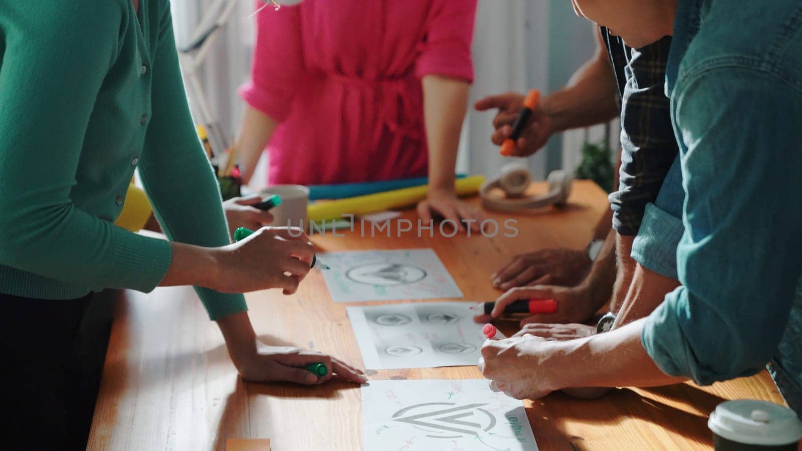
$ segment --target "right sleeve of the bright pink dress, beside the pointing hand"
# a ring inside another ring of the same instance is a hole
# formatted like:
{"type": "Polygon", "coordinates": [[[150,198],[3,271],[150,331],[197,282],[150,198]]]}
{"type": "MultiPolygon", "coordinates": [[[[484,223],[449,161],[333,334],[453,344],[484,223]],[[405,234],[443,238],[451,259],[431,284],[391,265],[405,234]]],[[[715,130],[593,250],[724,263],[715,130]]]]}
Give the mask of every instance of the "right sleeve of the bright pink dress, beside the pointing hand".
{"type": "Polygon", "coordinates": [[[432,6],[415,75],[444,75],[473,81],[471,42],[476,0],[439,0],[432,6]]]}

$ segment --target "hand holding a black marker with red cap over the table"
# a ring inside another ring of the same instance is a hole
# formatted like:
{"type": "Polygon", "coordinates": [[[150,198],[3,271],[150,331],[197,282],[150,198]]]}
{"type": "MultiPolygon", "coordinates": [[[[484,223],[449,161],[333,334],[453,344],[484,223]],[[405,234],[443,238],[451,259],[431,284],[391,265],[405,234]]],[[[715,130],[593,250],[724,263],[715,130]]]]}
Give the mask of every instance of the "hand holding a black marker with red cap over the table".
{"type": "Polygon", "coordinates": [[[530,315],[520,320],[520,327],[529,323],[581,323],[588,319],[597,309],[593,304],[590,291],[584,286],[525,286],[512,288],[496,299],[490,315],[476,315],[476,323],[488,323],[504,315],[504,308],[520,299],[554,299],[557,301],[555,313],[530,315]]]}

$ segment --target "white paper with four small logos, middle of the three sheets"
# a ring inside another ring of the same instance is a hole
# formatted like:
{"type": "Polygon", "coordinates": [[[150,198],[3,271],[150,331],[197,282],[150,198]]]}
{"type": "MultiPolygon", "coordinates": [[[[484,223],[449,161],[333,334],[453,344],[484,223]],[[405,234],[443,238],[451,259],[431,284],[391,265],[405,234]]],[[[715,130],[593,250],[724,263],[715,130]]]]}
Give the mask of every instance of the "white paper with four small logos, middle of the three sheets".
{"type": "Polygon", "coordinates": [[[484,324],[479,303],[403,303],[346,307],[365,368],[476,365],[484,324]]]}

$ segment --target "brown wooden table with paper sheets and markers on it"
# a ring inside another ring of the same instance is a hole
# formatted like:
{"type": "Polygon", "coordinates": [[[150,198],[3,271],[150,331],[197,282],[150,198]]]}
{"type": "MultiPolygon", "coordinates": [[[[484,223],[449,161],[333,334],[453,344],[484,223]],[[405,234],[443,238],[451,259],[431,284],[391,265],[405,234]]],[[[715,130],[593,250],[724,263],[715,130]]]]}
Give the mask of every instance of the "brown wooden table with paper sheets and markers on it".
{"type": "MultiPolygon", "coordinates": [[[[602,190],[580,181],[567,209],[516,215],[516,238],[460,234],[445,239],[436,233],[435,238],[359,238],[357,231],[345,238],[315,236],[313,241],[320,250],[431,247],[464,300],[492,300],[499,292],[490,285],[489,274],[508,256],[552,246],[581,249],[606,208],[602,190]]],[[[499,221],[506,218],[486,213],[499,221]]],[[[414,212],[404,217],[415,218],[414,212]]],[[[248,304],[264,339],[362,364],[346,304],[331,302],[316,271],[296,295],[261,291],[248,295],[248,304]]],[[[481,378],[476,367],[368,373],[372,380],[481,378]]],[[[599,400],[554,393],[526,405],[537,443],[547,451],[711,449],[708,413],[719,402],[737,398],[783,402],[763,372],[705,388],[621,388],[599,400]]],[[[88,449],[225,449],[229,438],[269,438],[274,450],[362,449],[359,388],[245,383],[191,289],[125,292],[111,331],[88,449]]]]}

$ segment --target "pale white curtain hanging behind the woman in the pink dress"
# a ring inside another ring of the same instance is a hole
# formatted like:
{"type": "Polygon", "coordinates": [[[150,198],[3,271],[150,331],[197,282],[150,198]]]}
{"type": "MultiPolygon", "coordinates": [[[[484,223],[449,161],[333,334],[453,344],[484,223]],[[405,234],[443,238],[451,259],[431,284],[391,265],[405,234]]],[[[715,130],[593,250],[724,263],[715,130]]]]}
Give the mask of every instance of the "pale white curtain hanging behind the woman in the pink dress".
{"type": "MultiPolygon", "coordinates": [[[[215,1],[171,0],[179,47],[192,39],[201,13],[215,1]]],[[[237,2],[237,9],[209,52],[203,80],[210,106],[231,137],[244,108],[236,88],[249,76],[254,25],[248,16],[254,3],[229,1],[237,2]]],[[[479,0],[473,39],[476,79],[471,102],[504,91],[525,92],[535,87],[548,92],[563,86],[571,72],[592,54],[592,39],[588,22],[573,17],[570,2],[565,0],[479,0]]],[[[490,142],[493,116],[492,112],[480,113],[472,108],[468,112],[457,160],[459,172],[492,176],[508,161],[490,142]]],[[[535,179],[543,179],[549,170],[563,165],[575,167],[585,132],[573,136],[562,141],[557,138],[549,149],[526,160],[535,179]]],[[[256,174],[263,173],[257,169],[256,174]]]]}

